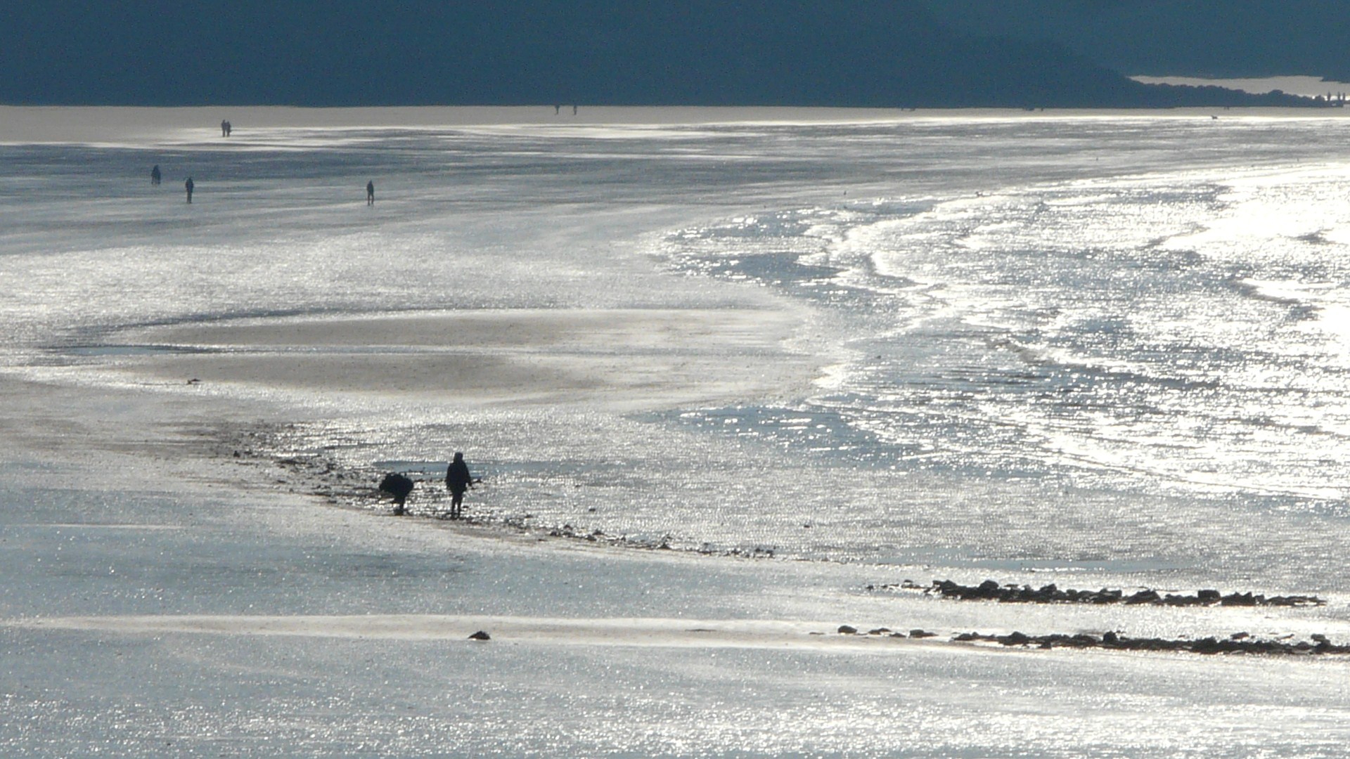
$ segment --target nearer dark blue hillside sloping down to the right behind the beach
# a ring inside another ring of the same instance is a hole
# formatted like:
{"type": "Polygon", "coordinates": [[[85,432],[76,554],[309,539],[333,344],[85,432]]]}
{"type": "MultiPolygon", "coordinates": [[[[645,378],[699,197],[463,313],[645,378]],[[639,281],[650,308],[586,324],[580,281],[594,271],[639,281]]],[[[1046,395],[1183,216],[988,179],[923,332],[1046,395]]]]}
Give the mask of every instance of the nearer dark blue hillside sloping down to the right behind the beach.
{"type": "Polygon", "coordinates": [[[7,16],[11,104],[1258,103],[953,32],[918,0],[50,0],[7,16]]]}

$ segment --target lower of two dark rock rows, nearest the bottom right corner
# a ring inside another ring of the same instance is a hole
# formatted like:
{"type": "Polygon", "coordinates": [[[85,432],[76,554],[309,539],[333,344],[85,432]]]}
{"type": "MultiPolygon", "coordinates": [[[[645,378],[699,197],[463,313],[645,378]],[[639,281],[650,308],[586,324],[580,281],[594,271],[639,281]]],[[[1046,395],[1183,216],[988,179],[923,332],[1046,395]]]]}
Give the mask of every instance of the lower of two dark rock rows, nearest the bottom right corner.
{"type": "Polygon", "coordinates": [[[952,637],[953,642],[981,642],[999,643],[1002,646],[1022,646],[1027,648],[1108,648],[1115,651],[1185,651],[1191,654],[1268,654],[1268,655],[1319,655],[1319,654],[1350,654],[1350,646],[1336,646],[1327,640],[1324,635],[1314,635],[1312,640],[1291,643],[1288,640],[1270,640],[1251,637],[1246,632],[1235,632],[1226,639],[1200,637],[1165,639],[1165,637],[1126,637],[1116,632],[1106,632],[1102,637],[1095,635],[1025,635],[1010,632],[1008,635],[984,635],[979,632],[963,632],[952,637]]]}

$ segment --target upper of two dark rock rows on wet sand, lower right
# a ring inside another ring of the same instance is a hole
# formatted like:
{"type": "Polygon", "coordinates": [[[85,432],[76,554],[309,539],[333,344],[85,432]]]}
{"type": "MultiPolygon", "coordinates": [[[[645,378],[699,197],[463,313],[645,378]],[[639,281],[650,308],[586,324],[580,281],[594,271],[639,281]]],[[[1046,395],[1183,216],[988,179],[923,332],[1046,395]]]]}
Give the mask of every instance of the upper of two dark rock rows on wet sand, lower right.
{"type": "Polygon", "coordinates": [[[1326,601],[1316,596],[1261,596],[1247,593],[1228,593],[1218,590],[1199,590],[1195,596],[1181,596],[1176,593],[1162,594],[1145,587],[1137,593],[1126,596],[1123,590],[1072,590],[1060,589],[1056,585],[1031,587],[1030,585],[999,585],[992,579],[986,579],[979,585],[960,585],[950,579],[934,579],[933,585],[917,585],[909,579],[891,585],[868,585],[868,590],[922,590],[925,594],[937,594],[942,598],[957,601],[999,601],[1002,604],[1125,604],[1125,605],[1152,605],[1152,606],[1324,606],[1326,601]]]}

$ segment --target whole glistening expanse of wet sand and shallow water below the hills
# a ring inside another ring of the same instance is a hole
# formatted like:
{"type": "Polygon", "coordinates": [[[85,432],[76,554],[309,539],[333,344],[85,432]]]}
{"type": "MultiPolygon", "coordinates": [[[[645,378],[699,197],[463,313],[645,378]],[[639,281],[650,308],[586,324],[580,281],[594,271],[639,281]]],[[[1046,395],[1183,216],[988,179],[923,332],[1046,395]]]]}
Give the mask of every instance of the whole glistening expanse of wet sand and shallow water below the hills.
{"type": "Polygon", "coordinates": [[[1350,642],[1338,290],[1204,248],[1338,116],[0,108],[0,754],[1339,755],[1341,655],[998,642],[1350,642]]]}

